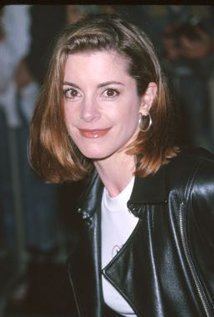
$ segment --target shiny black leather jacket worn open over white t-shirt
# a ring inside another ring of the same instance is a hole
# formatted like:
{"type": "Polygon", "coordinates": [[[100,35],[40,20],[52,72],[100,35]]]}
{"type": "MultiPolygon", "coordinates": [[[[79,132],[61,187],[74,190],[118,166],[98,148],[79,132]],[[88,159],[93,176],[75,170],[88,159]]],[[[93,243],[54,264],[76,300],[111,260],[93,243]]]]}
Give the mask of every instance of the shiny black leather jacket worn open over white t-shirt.
{"type": "Polygon", "coordinates": [[[78,209],[83,226],[69,258],[75,317],[105,317],[101,274],[139,317],[213,317],[213,155],[183,152],[155,175],[136,177],[128,208],[139,222],[103,271],[102,190],[95,175],[78,209]]]}

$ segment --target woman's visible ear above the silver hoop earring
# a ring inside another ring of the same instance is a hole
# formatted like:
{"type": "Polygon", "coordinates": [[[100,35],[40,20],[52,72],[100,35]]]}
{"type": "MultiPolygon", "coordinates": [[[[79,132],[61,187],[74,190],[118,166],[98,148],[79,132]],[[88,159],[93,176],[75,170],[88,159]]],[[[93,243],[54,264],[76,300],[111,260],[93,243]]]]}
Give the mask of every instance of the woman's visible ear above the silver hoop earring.
{"type": "Polygon", "coordinates": [[[148,84],[145,93],[141,97],[140,112],[142,113],[142,115],[148,115],[153,101],[157,95],[157,90],[158,87],[155,82],[151,82],[148,84]]]}

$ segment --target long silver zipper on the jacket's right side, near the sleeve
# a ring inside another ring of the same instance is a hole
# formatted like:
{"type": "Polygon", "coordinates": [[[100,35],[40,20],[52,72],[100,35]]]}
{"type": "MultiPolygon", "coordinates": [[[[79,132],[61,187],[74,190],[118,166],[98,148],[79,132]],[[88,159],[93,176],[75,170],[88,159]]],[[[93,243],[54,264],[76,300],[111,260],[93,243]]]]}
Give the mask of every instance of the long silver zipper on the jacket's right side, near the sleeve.
{"type": "Polygon", "coordinates": [[[193,276],[193,279],[194,279],[194,283],[195,283],[195,287],[196,287],[196,290],[197,290],[197,293],[201,299],[201,302],[202,302],[202,305],[204,307],[204,310],[205,310],[205,313],[206,313],[206,316],[207,317],[211,317],[210,313],[209,313],[209,304],[207,303],[207,299],[203,293],[203,289],[202,289],[202,286],[200,285],[200,280],[199,280],[199,277],[197,275],[197,272],[196,272],[196,268],[194,266],[194,263],[193,263],[193,260],[191,258],[191,254],[190,254],[190,251],[189,251],[189,248],[187,246],[187,243],[186,243],[186,234],[185,234],[185,230],[184,230],[184,217],[183,217],[183,210],[184,210],[184,202],[181,203],[180,205],[180,213],[179,213],[179,220],[180,220],[180,228],[181,228],[181,239],[182,239],[182,243],[183,243],[183,247],[184,247],[184,252],[185,252],[185,255],[186,255],[186,258],[187,258],[187,261],[188,261],[188,264],[189,264],[189,268],[191,270],[191,273],[192,273],[192,276],[193,276]]]}

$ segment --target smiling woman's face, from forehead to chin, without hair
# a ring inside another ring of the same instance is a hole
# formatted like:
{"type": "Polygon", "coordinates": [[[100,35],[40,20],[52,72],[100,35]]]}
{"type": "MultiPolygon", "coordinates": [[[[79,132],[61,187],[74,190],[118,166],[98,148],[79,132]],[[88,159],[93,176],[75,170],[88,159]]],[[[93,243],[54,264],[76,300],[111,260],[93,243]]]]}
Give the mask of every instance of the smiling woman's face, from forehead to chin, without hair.
{"type": "Polygon", "coordinates": [[[114,51],[69,55],[64,73],[65,122],[73,142],[93,160],[122,150],[138,132],[147,105],[128,74],[128,61],[114,51]]]}

